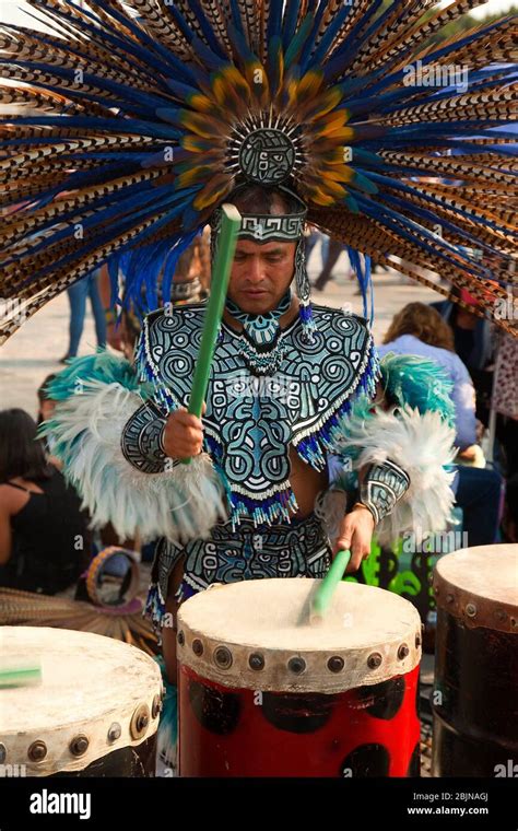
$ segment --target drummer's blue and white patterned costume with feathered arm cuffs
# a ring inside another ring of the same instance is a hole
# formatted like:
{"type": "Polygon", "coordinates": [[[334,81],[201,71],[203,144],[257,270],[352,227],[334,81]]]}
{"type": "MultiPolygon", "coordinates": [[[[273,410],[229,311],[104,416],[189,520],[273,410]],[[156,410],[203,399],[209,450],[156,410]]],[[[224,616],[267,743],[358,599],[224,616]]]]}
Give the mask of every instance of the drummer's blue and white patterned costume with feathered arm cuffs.
{"type": "Polygon", "coordinates": [[[146,605],[158,633],[181,557],[183,599],[216,582],[321,577],[340,520],[327,506],[334,491],[350,491],[369,507],[381,538],[416,524],[444,527],[452,500],[444,466],[454,432],[440,372],[400,356],[386,358],[380,372],[366,321],[325,306],[311,308],[310,339],[301,316],[261,336],[268,348],[259,365],[245,330],[222,323],[203,453],[189,466],[168,458],[163,429],[168,413],[188,403],[204,307],[150,314],[133,366],[99,351],[71,362],[50,390],[59,403],[47,430],[94,524],[160,537],[146,605]],[[389,411],[373,401],[378,382],[389,411]],[[302,519],[290,446],[329,472],[329,488],[302,519]],[[193,481],[192,471],[186,475],[191,467],[199,468],[193,481]]]}

